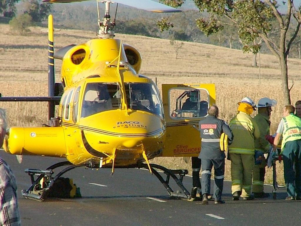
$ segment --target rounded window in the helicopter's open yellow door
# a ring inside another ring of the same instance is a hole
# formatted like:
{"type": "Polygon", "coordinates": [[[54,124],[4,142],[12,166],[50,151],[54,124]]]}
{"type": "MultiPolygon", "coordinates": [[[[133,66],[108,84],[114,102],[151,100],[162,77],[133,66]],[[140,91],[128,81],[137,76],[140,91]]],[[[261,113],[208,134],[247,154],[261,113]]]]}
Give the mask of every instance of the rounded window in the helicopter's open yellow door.
{"type": "Polygon", "coordinates": [[[209,106],[206,89],[171,89],[169,91],[170,116],[176,118],[205,117],[209,106]]]}

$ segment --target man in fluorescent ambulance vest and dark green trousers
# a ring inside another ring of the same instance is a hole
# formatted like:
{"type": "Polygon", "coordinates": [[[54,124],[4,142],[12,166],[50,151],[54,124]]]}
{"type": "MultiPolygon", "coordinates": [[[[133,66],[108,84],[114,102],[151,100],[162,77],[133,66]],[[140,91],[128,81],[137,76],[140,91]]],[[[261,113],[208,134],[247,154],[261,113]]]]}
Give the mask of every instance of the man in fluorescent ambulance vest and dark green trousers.
{"type": "Polygon", "coordinates": [[[301,199],[301,119],[295,116],[294,112],[293,105],[283,108],[284,118],[279,123],[273,147],[275,152],[282,135],[281,153],[287,186],[286,200],[301,199]]]}

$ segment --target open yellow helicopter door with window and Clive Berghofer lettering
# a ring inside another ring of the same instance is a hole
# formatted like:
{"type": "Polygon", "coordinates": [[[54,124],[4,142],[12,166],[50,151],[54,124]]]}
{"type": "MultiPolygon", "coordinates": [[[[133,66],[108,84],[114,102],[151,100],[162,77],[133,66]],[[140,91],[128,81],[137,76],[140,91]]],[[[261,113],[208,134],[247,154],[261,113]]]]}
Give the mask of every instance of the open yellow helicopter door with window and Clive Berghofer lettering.
{"type": "Polygon", "coordinates": [[[214,84],[162,84],[166,141],[162,156],[192,157],[201,150],[199,121],[215,104],[214,84]]]}

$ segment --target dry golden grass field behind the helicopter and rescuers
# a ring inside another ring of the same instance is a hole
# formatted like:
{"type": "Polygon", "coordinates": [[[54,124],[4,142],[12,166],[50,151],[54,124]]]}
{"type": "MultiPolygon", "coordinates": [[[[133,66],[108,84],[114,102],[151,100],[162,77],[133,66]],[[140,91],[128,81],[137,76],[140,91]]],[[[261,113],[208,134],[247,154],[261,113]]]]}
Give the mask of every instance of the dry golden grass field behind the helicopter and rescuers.
{"type": "MultiPolygon", "coordinates": [[[[31,27],[26,36],[11,33],[9,26],[0,24],[0,93],[3,96],[44,96],[47,95],[47,33],[41,27],[31,27]]],[[[95,32],[61,30],[55,33],[55,49],[69,44],[80,44],[95,38],[95,32]]],[[[271,117],[271,133],[274,133],[284,106],[278,62],[272,55],[260,55],[261,82],[259,68],[251,67],[252,54],[240,50],[213,45],[184,42],[175,59],[175,51],[169,40],[144,36],[117,34],[116,38],[134,46],[142,55],[141,74],[154,79],[157,77],[159,89],[163,83],[215,83],[216,104],[220,117],[229,121],[236,113],[237,102],[249,96],[256,102],[262,97],[278,100],[271,117]]],[[[257,58],[258,59],[258,58],[257,58]]],[[[300,63],[289,59],[289,80],[292,102],[301,99],[300,63]]],[[[56,80],[60,80],[61,62],[55,61],[56,80]]],[[[47,121],[46,104],[43,103],[0,103],[6,108],[10,126],[39,126],[47,121]]],[[[171,168],[187,168],[181,158],[157,158],[156,163],[171,168]]],[[[226,179],[231,179],[230,162],[226,163],[226,179]]],[[[279,178],[283,175],[283,164],[278,167],[279,178]]],[[[268,169],[266,182],[272,180],[268,169]]]]}

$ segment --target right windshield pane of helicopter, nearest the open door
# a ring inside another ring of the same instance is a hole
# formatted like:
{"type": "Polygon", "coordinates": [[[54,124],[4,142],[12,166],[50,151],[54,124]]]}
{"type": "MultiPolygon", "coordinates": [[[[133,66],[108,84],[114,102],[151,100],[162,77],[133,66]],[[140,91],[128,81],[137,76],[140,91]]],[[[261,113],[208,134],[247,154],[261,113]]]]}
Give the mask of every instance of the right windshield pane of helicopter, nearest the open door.
{"type": "Polygon", "coordinates": [[[152,83],[125,83],[128,108],[163,117],[159,91],[152,83]]]}

